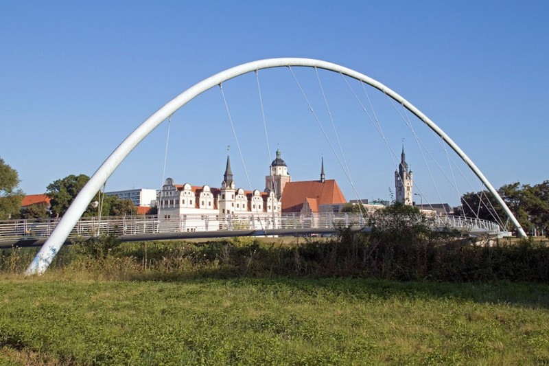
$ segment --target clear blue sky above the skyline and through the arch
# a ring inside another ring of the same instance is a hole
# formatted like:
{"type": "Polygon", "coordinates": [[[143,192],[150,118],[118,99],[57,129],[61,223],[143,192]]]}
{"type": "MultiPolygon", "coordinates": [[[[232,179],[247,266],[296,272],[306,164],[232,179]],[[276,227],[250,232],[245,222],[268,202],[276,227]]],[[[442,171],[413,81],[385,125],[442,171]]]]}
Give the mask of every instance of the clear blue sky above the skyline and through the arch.
{"type": "MultiPolygon", "coordinates": [[[[549,179],[548,19],[547,1],[2,1],[0,157],[18,170],[27,194],[45,192],[68,174],[93,174],[149,115],[213,73],[261,58],[307,57],[350,67],[403,95],[495,187],[541,183],[549,179]]],[[[327,178],[354,198],[291,73],[259,75],[271,155],[279,143],[290,174],[306,180],[318,179],[323,154],[327,178]]],[[[296,76],[329,127],[314,71],[296,76]]],[[[395,166],[382,139],[341,78],[320,77],[358,193],[388,198],[395,166]]],[[[255,76],[224,90],[250,181],[263,189],[269,158],[255,76]]],[[[390,115],[386,99],[371,98],[379,100],[375,108],[395,151],[405,138],[423,196],[439,201],[410,130],[394,109],[390,115]]],[[[165,137],[163,124],[107,190],[159,188],[165,137]]],[[[227,145],[235,181],[248,189],[219,90],[212,89],[174,114],[165,175],[219,186],[227,145]]],[[[429,146],[448,165],[443,150],[429,146]]],[[[456,180],[462,193],[471,191],[456,180]]],[[[441,190],[444,201],[458,201],[452,187],[441,190]]]]}

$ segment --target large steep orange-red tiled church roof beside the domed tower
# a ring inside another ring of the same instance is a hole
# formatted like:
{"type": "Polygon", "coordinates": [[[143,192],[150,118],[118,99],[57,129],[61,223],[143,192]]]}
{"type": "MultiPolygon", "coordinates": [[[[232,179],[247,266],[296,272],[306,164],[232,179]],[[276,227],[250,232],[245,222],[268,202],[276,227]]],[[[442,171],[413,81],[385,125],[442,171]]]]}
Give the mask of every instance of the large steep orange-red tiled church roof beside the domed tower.
{"type": "Polygon", "coordinates": [[[301,211],[306,198],[316,200],[316,210],[311,206],[313,212],[318,212],[320,205],[347,203],[334,179],[327,179],[324,183],[320,181],[288,182],[282,191],[282,212],[301,211]]]}

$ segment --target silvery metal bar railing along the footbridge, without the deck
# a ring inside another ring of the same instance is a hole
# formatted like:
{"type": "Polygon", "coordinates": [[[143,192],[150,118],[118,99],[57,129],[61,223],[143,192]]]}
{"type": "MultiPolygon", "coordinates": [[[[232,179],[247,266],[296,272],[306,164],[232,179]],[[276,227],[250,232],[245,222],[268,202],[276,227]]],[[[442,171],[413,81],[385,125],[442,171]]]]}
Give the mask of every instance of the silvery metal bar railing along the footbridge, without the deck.
{"type": "MultiPolygon", "coordinates": [[[[117,236],[195,231],[229,231],[265,229],[333,229],[334,227],[366,227],[370,220],[381,220],[382,216],[361,214],[193,214],[178,218],[160,219],[155,216],[106,216],[82,217],[69,238],[97,236],[114,233],[117,236]]],[[[434,228],[448,227],[460,231],[502,231],[495,222],[463,216],[434,216],[426,218],[434,228]]],[[[58,218],[0,220],[0,242],[47,238],[59,222],[58,218]]]]}

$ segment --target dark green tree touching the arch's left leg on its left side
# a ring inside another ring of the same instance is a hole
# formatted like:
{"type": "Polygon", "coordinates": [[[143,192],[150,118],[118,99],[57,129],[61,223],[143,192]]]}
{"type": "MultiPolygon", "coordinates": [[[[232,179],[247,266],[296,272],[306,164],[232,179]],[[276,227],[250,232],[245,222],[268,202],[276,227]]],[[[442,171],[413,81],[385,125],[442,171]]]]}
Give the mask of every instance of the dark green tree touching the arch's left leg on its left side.
{"type": "MultiPolygon", "coordinates": [[[[51,198],[51,213],[54,216],[63,216],[74,198],[90,180],[85,174],[65,176],[47,186],[47,196],[51,198]]],[[[93,200],[97,201],[97,200],[93,200]]],[[[91,210],[91,207],[90,207],[91,210]]]]}

